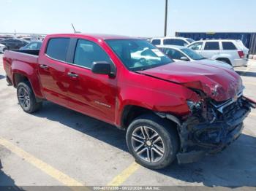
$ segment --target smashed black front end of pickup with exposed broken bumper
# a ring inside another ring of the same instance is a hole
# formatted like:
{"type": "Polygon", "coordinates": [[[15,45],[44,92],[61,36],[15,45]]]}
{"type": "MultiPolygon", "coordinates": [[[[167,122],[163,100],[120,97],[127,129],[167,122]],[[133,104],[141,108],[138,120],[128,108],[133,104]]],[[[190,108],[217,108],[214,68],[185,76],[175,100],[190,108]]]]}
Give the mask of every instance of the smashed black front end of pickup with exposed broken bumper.
{"type": "Polygon", "coordinates": [[[178,125],[181,140],[178,163],[193,163],[225,149],[241,135],[244,118],[256,106],[242,92],[227,101],[206,98],[200,106],[189,104],[191,114],[178,125]]]}

